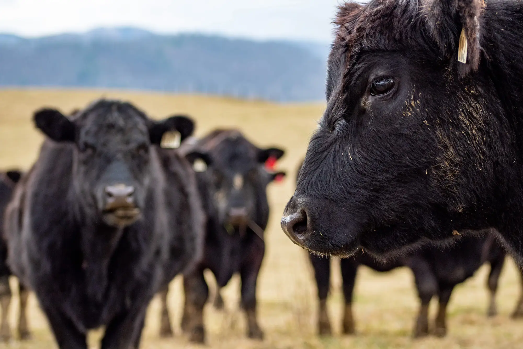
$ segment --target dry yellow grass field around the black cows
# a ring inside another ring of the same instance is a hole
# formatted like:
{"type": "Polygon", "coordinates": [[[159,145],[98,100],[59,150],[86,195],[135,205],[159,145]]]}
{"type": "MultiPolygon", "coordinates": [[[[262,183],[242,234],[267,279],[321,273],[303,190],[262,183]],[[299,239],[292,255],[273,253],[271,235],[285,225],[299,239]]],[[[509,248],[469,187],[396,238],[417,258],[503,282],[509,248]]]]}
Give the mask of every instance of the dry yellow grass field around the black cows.
{"type": "MultiPolygon", "coordinates": [[[[221,126],[242,129],[259,146],[279,145],[287,149],[280,168],[289,177],[283,184],[269,189],[271,219],[266,233],[267,254],[259,277],[258,300],[260,325],[265,330],[264,342],[245,339],[245,323],[238,309],[237,278],[224,289],[226,310],[206,309],[209,348],[217,349],[337,349],[337,348],[523,348],[523,321],[509,318],[519,297],[520,281],[512,261],[505,267],[498,293],[499,315],[485,317],[487,268],[454,291],[449,306],[449,335],[445,339],[411,339],[411,328],[417,310],[417,297],[410,271],[399,269],[378,274],[362,268],[357,281],[355,316],[357,336],[320,339],[315,336],[315,287],[305,252],[294,246],[279,227],[283,206],[293,191],[295,169],[302,159],[309,136],[323,105],[278,105],[256,101],[237,101],[219,97],[187,96],[132,92],[27,90],[0,91],[0,168],[27,169],[35,160],[42,137],[31,123],[32,112],[41,106],[56,106],[63,112],[83,107],[89,101],[105,96],[129,100],[151,116],[164,117],[187,113],[197,121],[202,135],[221,126]]],[[[331,321],[339,333],[342,308],[339,272],[334,268],[331,321]]],[[[209,276],[211,285],[212,277],[209,276]]],[[[13,280],[13,283],[16,281],[13,280]]],[[[211,287],[212,289],[212,287],[211,287]]],[[[158,338],[158,302],[150,307],[142,347],[145,349],[201,348],[189,344],[179,330],[181,301],[180,280],[171,287],[169,303],[176,324],[174,339],[158,338]]],[[[212,293],[212,291],[211,291],[212,293]]],[[[12,324],[16,318],[17,299],[11,308],[12,324]]],[[[434,310],[434,309],[433,309],[434,310]]],[[[30,326],[34,339],[0,344],[0,349],[55,348],[47,322],[30,298],[30,326]]],[[[90,336],[92,347],[100,331],[90,336]]]]}

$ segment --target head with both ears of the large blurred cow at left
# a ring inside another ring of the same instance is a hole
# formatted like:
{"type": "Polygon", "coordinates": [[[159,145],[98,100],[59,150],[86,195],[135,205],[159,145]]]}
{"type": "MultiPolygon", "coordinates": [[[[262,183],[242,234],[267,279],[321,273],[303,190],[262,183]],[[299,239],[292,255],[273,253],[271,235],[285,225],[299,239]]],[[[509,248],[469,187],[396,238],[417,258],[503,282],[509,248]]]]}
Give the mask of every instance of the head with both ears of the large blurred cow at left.
{"type": "Polygon", "coordinates": [[[35,123],[56,142],[74,144],[73,185],[90,219],[115,227],[137,221],[154,168],[154,145],[168,130],[183,137],[194,125],[176,116],[155,122],[129,103],[98,101],[69,119],[56,110],[35,114],[35,123]]]}

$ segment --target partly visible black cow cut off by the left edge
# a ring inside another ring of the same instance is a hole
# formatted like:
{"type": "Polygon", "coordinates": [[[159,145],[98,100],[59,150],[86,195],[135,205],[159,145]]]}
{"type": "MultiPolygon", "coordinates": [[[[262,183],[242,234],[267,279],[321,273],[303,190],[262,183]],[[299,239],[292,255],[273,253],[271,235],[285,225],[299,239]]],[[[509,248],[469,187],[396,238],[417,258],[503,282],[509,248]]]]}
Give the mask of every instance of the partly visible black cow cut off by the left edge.
{"type": "MultiPolygon", "coordinates": [[[[4,236],[4,211],[13,195],[16,183],[20,180],[22,173],[18,170],[10,170],[0,173],[0,306],[2,307],[2,320],[0,324],[0,340],[8,342],[12,335],[7,319],[9,305],[11,303],[11,287],[9,277],[12,275],[7,266],[7,245],[2,238],[4,236]]],[[[31,337],[27,324],[26,307],[29,290],[18,283],[20,296],[20,310],[18,314],[18,336],[21,340],[28,340],[31,337]]]]}

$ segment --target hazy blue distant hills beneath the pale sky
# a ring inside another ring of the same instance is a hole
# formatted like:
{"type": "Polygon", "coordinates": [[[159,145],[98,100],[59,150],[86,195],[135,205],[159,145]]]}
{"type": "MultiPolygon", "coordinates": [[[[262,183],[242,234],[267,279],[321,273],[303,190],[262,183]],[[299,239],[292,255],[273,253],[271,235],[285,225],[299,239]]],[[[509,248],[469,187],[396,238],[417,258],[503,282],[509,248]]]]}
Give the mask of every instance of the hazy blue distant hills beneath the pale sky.
{"type": "Polygon", "coordinates": [[[100,28],[35,39],[0,34],[0,86],[324,98],[328,45],[100,28]]]}

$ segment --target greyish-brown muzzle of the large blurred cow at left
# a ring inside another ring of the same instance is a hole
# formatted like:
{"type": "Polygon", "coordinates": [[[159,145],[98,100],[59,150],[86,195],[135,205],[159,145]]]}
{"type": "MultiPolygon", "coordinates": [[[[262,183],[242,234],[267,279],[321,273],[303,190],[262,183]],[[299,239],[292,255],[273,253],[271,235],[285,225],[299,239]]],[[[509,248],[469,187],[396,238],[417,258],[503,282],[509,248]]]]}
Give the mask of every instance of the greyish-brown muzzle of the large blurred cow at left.
{"type": "Polygon", "coordinates": [[[112,226],[128,226],[140,218],[141,211],[135,204],[134,187],[113,184],[104,189],[104,220],[112,226]]]}

